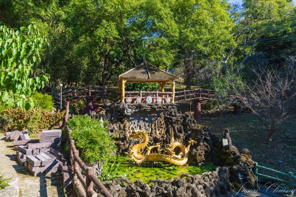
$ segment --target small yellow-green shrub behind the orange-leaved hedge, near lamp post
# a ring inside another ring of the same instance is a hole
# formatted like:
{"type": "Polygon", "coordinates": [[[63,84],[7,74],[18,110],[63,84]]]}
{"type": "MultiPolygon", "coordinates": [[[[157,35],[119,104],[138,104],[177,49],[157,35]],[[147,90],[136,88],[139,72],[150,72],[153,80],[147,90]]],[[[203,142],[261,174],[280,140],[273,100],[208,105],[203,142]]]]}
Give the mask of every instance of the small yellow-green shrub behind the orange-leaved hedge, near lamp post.
{"type": "Polygon", "coordinates": [[[50,110],[50,111],[53,108],[53,102],[52,102],[51,95],[35,92],[32,95],[32,99],[34,100],[36,107],[39,107],[44,110],[50,110]]]}

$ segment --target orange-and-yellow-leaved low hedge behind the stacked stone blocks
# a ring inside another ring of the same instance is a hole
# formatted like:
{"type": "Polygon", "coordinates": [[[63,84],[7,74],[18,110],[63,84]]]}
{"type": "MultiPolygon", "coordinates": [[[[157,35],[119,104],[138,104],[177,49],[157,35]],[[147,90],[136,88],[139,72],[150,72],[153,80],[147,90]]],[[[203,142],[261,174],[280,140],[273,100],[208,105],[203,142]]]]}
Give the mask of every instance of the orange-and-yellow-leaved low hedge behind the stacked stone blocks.
{"type": "Polygon", "coordinates": [[[31,108],[27,112],[23,108],[10,107],[3,110],[0,116],[3,131],[22,131],[28,129],[29,132],[37,132],[58,125],[63,119],[64,112],[50,113],[40,108],[31,108]]]}

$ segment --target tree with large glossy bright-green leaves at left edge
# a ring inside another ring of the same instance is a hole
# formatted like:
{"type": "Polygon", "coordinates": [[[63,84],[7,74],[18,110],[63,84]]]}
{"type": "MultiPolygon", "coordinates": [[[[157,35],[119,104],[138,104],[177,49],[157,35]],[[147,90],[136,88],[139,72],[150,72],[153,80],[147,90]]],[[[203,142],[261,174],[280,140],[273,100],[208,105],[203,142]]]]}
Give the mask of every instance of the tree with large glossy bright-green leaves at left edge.
{"type": "Polygon", "coordinates": [[[19,30],[0,26],[0,96],[2,104],[20,106],[26,110],[34,106],[32,93],[43,88],[49,76],[37,73],[41,61],[40,50],[47,38],[40,35],[37,27],[19,30]]]}

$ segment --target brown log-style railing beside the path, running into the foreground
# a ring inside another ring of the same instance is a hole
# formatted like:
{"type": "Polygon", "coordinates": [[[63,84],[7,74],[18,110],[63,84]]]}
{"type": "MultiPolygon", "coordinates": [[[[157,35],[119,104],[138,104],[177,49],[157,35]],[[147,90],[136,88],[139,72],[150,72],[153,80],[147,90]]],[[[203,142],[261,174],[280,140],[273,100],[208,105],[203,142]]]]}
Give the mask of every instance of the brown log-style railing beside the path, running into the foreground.
{"type": "Polygon", "coordinates": [[[66,102],[66,114],[64,117],[64,126],[68,132],[70,141],[70,164],[73,169],[73,184],[78,184],[74,186],[79,191],[79,196],[86,197],[97,197],[97,193],[94,191],[94,186],[104,197],[113,197],[107,188],[100,182],[100,180],[95,176],[93,168],[88,167],[79,157],[79,151],[75,147],[75,142],[71,139],[71,132],[69,126],[67,125],[69,115],[69,101],[66,102]],[[81,171],[80,171],[81,169],[81,171]],[[84,176],[82,175],[84,174],[84,176]]]}

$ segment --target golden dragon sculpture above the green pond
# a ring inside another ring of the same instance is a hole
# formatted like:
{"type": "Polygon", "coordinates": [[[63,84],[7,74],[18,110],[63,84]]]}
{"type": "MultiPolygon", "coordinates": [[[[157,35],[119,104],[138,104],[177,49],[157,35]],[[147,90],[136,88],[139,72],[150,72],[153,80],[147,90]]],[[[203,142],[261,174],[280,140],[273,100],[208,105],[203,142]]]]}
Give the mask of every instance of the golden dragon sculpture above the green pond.
{"type": "Polygon", "coordinates": [[[141,143],[135,144],[132,148],[129,149],[129,156],[137,164],[146,163],[146,162],[156,162],[164,161],[174,165],[184,165],[188,160],[188,151],[190,146],[196,141],[191,138],[188,141],[187,147],[183,142],[179,142],[178,139],[175,141],[174,136],[171,137],[172,141],[167,145],[165,151],[160,149],[160,144],[155,144],[150,146],[150,136],[149,131],[137,130],[133,131],[130,135],[132,139],[139,139],[141,143]],[[176,154],[175,148],[179,148],[180,153],[176,154]],[[152,151],[156,149],[156,151],[152,151]],[[164,153],[161,153],[164,152],[164,153]],[[166,153],[166,154],[165,154],[166,153]]]}

